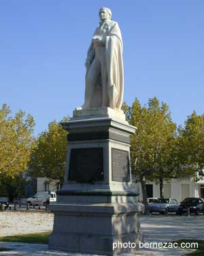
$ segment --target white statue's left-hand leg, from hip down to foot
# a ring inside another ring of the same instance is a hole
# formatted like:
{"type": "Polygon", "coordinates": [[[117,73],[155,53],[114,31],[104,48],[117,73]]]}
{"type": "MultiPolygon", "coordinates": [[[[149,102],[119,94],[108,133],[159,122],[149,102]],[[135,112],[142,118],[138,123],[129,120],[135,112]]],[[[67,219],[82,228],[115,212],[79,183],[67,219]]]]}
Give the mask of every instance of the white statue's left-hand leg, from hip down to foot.
{"type": "Polygon", "coordinates": [[[99,59],[95,57],[86,72],[86,89],[83,109],[89,109],[91,107],[92,98],[95,96],[95,86],[97,84],[97,79],[100,75],[100,72],[101,63],[99,59]]]}

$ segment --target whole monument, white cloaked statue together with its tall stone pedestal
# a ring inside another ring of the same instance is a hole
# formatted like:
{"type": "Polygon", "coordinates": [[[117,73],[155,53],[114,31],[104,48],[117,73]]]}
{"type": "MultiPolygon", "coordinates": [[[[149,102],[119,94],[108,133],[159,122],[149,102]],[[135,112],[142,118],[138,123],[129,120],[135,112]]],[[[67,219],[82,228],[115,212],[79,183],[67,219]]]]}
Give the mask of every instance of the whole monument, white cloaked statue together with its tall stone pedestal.
{"type": "MultiPolygon", "coordinates": [[[[69,132],[65,183],[50,205],[54,227],[49,248],[114,255],[114,243],[142,240],[143,207],[131,182],[130,136],[135,127],[121,110],[124,79],[122,36],[108,8],[86,58],[84,105],[63,128],[69,132]]],[[[131,248],[129,248],[131,249],[131,248]]]]}

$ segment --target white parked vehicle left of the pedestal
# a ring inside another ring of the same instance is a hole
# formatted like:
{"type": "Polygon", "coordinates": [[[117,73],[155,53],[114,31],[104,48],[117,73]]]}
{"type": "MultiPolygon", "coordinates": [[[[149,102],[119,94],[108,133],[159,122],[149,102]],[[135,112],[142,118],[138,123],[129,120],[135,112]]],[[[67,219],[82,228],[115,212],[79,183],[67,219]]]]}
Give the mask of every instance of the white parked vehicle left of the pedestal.
{"type": "Polygon", "coordinates": [[[29,205],[44,205],[46,206],[50,202],[56,201],[56,193],[55,192],[38,192],[33,197],[29,197],[27,199],[27,203],[29,205]]]}

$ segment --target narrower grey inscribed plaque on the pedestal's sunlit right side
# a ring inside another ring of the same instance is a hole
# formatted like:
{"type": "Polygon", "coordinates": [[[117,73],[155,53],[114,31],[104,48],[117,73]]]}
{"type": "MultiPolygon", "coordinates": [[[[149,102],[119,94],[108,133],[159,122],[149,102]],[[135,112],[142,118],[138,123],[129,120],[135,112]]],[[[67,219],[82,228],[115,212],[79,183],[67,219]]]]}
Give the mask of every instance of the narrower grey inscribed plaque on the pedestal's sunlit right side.
{"type": "Polygon", "coordinates": [[[112,180],[130,182],[129,152],[112,148],[112,180]]]}

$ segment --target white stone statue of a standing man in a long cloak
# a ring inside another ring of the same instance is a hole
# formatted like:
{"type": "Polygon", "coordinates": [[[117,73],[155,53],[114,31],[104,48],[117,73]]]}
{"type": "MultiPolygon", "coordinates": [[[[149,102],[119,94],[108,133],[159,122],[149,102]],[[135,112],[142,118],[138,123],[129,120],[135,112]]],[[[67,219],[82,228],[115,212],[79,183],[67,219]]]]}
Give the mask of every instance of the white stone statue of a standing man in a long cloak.
{"type": "Polygon", "coordinates": [[[123,98],[122,37],[108,8],[99,10],[101,22],[95,30],[86,58],[86,89],[82,109],[109,106],[121,109],[123,98]]]}

